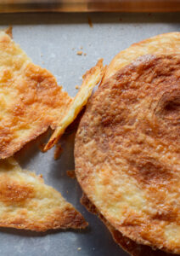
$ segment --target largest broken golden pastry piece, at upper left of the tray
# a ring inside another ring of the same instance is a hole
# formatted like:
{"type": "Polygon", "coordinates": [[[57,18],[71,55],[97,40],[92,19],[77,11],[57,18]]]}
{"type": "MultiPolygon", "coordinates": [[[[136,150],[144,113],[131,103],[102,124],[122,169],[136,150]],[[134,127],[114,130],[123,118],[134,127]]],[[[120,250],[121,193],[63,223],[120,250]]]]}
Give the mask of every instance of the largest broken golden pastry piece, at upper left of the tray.
{"type": "Polygon", "coordinates": [[[34,65],[18,44],[0,32],[0,158],[13,155],[50,126],[71,102],[48,70],[34,65]]]}

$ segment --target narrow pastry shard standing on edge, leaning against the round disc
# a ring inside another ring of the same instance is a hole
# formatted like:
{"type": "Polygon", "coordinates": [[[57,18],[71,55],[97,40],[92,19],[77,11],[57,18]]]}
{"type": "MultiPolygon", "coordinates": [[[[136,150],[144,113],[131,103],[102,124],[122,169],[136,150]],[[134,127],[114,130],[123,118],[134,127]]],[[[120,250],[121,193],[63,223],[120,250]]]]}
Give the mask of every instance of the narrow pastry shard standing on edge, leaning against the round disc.
{"type": "Polygon", "coordinates": [[[47,151],[58,143],[59,138],[62,136],[67,126],[76,119],[78,113],[80,113],[82,108],[87,104],[87,100],[91,96],[93,88],[103,78],[104,71],[103,59],[101,59],[95,67],[92,67],[87,71],[87,73],[85,73],[80,90],[70,103],[70,108],[67,109],[64,118],[60,120],[58,127],[53,132],[53,135],[45,146],[44,151],[47,151]]]}

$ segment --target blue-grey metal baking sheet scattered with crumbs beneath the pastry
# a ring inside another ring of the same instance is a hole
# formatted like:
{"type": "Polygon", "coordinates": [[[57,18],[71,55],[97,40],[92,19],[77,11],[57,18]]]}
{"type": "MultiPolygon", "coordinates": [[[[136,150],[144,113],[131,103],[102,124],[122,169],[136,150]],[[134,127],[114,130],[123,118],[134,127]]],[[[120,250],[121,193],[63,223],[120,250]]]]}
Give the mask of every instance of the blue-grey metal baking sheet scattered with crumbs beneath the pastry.
{"type": "MultiPolygon", "coordinates": [[[[179,14],[15,14],[0,15],[0,28],[13,26],[15,42],[38,65],[48,68],[63,84],[70,96],[76,95],[76,84],[82,74],[104,57],[108,64],[121,49],[159,33],[180,31],[179,14]],[[87,20],[91,18],[93,27],[87,20]],[[82,50],[87,55],[76,55],[82,50]]],[[[40,139],[45,139],[42,136],[40,139]]],[[[20,165],[42,173],[45,183],[64,195],[87,219],[83,231],[31,231],[0,229],[1,256],[125,256],[104,224],[87,212],[79,200],[82,191],[76,180],[66,175],[74,169],[75,132],[62,138],[64,148],[59,160],[53,160],[53,149],[39,151],[39,139],[25,146],[16,159],[20,165]]],[[[144,255],[145,256],[145,255],[144,255]]]]}

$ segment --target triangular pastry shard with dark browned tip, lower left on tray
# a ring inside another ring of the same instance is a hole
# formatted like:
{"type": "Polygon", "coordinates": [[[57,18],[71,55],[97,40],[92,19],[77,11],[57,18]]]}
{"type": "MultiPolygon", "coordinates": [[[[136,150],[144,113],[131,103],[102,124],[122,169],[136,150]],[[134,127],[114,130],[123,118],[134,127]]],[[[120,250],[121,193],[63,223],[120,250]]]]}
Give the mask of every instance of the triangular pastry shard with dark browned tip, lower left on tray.
{"type": "Polygon", "coordinates": [[[46,231],[83,229],[87,222],[42,177],[8,159],[0,160],[0,226],[46,231]]]}

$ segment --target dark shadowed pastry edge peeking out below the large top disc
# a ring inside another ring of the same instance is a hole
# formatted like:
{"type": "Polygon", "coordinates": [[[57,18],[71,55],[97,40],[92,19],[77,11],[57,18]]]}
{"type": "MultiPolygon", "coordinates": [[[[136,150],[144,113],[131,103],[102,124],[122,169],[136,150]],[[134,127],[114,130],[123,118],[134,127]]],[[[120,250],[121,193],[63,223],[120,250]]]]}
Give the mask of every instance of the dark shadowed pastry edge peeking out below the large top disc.
{"type": "Polygon", "coordinates": [[[102,214],[98,212],[98,209],[93,205],[91,201],[88,200],[87,195],[83,194],[81,199],[82,205],[87,208],[87,211],[92,212],[93,214],[98,215],[106,227],[110,230],[111,235],[115,242],[122,247],[127,253],[130,253],[132,256],[173,256],[173,253],[166,253],[159,249],[155,250],[152,247],[141,245],[132,241],[126,236],[122,236],[121,232],[115,230],[115,228],[104,218],[102,214]]]}

